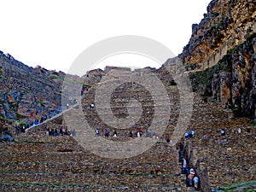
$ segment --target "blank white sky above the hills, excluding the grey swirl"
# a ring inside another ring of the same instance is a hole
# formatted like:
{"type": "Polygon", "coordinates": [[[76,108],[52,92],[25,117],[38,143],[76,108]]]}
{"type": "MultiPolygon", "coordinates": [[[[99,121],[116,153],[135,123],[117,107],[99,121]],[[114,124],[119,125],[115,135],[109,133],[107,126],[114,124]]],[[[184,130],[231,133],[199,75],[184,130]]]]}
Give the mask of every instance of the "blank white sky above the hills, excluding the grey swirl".
{"type": "MultiPolygon", "coordinates": [[[[0,50],[30,67],[40,65],[66,73],[84,49],[120,35],[152,38],[177,55],[189,42],[192,24],[207,13],[208,3],[210,0],[1,1],[0,50]]],[[[123,60],[120,65],[134,65],[133,60],[154,65],[147,58],[143,61],[131,55],[118,55],[116,60],[123,60]]],[[[114,62],[108,58],[105,64],[114,62]]]]}

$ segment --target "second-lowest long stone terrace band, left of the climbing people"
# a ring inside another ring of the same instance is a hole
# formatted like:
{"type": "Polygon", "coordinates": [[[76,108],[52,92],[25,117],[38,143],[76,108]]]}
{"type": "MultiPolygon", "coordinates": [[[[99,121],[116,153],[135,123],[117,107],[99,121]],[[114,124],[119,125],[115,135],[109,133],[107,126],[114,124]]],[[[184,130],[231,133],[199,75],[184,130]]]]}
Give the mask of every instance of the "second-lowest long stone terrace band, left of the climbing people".
{"type": "Polygon", "coordinates": [[[177,170],[177,163],[172,162],[145,162],[142,164],[131,161],[122,163],[120,162],[102,162],[102,161],[74,161],[74,162],[3,162],[1,163],[2,167],[0,169],[1,173],[42,173],[47,174],[51,172],[55,173],[85,173],[86,174],[175,174],[179,172],[177,170]]]}

